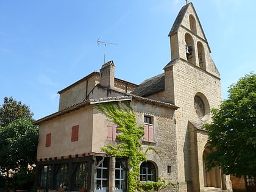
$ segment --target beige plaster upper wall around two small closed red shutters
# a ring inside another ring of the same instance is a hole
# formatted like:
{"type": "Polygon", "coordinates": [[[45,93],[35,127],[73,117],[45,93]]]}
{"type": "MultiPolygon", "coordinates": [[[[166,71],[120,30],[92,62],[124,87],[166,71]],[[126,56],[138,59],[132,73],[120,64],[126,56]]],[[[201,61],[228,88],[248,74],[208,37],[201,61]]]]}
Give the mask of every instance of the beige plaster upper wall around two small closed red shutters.
{"type": "Polygon", "coordinates": [[[80,108],[40,124],[37,159],[54,158],[91,152],[93,109],[80,108]],[[72,127],[79,125],[79,139],[71,142],[72,127]],[[46,134],[51,133],[51,146],[46,147],[46,134]]]}

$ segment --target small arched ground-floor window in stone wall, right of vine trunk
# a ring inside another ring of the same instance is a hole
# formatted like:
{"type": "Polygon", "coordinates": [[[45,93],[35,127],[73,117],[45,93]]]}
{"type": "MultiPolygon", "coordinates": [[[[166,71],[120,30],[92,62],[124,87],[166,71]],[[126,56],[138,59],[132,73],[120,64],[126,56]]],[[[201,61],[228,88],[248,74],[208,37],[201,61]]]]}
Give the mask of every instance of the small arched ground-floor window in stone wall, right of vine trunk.
{"type": "Polygon", "coordinates": [[[156,181],[155,166],[151,162],[143,162],[140,166],[140,181],[150,182],[156,181]]]}

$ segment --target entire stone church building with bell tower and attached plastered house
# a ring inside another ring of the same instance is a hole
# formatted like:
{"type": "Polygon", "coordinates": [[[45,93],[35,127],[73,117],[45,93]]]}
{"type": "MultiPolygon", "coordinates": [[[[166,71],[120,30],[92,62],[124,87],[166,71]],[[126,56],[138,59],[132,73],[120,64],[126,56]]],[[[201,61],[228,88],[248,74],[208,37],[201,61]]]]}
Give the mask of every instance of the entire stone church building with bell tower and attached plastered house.
{"type": "Polygon", "coordinates": [[[129,102],[144,127],[142,150],[154,146],[160,151],[148,152],[148,160],[141,162],[141,182],[161,177],[176,183],[176,191],[232,191],[221,169],[205,171],[204,155],[211,149],[202,125],[222,101],[221,82],[191,2],[177,15],[169,39],[171,60],[163,73],[140,85],[116,78],[118,65],[109,61],[58,92],[58,112],[35,121],[40,127],[37,186],[44,191],[126,191],[127,158],[113,160],[101,150],[115,145],[116,124],[96,106],[129,102]]]}

